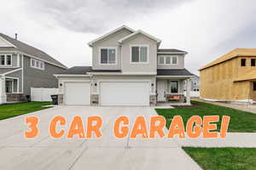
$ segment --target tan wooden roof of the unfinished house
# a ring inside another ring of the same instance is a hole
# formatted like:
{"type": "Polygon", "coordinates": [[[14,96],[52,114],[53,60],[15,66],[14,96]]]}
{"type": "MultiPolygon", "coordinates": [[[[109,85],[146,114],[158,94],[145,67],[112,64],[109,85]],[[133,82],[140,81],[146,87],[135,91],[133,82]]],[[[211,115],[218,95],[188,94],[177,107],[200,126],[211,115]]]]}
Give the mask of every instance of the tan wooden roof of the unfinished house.
{"type": "Polygon", "coordinates": [[[209,64],[201,67],[199,71],[204,70],[212,65],[217,65],[222,63],[226,60],[236,58],[238,56],[256,56],[256,48],[236,48],[230,51],[228,54],[224,54],[223,56],[219,57],[218,59],[213,60],[209,64]]]}

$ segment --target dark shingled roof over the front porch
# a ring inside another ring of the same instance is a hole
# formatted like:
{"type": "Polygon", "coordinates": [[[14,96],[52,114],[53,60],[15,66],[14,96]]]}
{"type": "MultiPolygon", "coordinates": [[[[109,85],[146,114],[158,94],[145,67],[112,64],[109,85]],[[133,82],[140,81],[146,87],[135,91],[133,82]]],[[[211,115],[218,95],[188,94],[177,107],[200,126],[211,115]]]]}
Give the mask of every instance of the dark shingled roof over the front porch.
{"type": "Polygon", "coordinates": [[[157,76],[194,76],[187,69],[158,69],[157,76]]]}

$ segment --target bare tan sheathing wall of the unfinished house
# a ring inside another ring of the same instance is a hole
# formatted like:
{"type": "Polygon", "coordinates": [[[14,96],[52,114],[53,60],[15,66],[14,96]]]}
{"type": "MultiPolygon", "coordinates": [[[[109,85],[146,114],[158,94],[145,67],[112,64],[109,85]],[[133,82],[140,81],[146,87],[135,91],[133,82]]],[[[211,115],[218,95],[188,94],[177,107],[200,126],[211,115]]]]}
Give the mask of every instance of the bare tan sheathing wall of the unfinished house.
{"type": "Polygon", "coordinates": [[[250,57],[237,57],[200,71],[201,98],[218,100],[243,100],[249,98],[250,82],[234,82],[250,66],[250,57]],[[241,58],[247,59],[247,66],[241,66],[241,58]]]}

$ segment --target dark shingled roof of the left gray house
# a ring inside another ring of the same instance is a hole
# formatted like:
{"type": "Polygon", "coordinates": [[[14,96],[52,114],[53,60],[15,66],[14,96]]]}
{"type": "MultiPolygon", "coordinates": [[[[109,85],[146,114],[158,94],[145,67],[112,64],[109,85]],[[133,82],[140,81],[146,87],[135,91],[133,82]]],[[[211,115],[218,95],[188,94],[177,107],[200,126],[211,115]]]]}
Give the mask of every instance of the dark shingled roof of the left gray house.
{"type": "Polygon", "coordinates": [[[45,62],[48,62],[49,64],[56,65],[62,68],[67,68],[67,66],[62,65],[61,62],[57,61],[56,59],[49,56],[49,54],[44,53],[44,51],[41,51],[38,48],[34,48],[30,45],[27,45],[24,42],[20,42],[12,37],[9,37],[7,35],[4,35],[3,33],[0,33],[0,37],[3,37],[4,40],[8,41],[9,43],[13,44],[14,47],[10,48],[0,48],[1,51],[8,51],[8,50],[17,50],[20,51],[23,54],[28,55],[29,57],[34,57],[41,59],[45,62]]]}

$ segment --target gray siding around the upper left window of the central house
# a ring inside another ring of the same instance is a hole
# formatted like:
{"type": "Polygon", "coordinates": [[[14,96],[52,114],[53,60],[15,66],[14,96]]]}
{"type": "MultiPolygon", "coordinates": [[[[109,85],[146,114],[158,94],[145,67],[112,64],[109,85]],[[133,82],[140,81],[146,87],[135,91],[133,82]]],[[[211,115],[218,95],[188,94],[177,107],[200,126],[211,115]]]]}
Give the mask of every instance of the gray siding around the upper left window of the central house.
{"type": "Polygon", "coordinates": [[[125,29],[115,32],[113,35],[110,35],[98,42],[95,42],[92,47],[92,68],[94,70],[119,70],[121,69],[121,48],[119,47],[119,39],[126,37],[131,34],[131,31],[125,29]],[[100,65],[100,48],[117,48],[117,64],[116,65],[100,65]]]}

